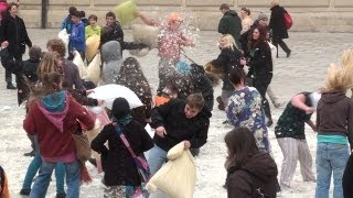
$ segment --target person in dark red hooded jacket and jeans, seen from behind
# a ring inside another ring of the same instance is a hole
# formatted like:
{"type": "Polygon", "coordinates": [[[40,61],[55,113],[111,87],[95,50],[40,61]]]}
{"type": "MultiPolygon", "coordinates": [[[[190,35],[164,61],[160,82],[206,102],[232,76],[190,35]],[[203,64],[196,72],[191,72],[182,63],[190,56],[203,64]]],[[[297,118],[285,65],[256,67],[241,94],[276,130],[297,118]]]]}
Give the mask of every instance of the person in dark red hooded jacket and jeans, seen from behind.
{"type": "Polygon", "coordinates": [[[63,75],[44,73],[41,79],[42,87],[33,91],[23,121],[24,131],[38,135],[43,160],[30,197],[45,197],[52,172],[60,162],[65,165],[67,197],[79,197],[79,164],[72,134],[81,129],[81,123],[92,130],[94,120],[67,91],[62,90],[63,75]]]}

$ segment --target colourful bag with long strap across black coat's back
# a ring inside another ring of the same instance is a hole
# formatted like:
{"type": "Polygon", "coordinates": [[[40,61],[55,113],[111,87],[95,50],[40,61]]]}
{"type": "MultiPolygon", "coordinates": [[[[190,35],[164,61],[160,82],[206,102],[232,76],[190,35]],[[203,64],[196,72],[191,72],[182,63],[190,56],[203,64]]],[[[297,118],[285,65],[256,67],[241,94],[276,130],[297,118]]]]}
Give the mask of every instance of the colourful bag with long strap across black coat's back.
{"type": "Polygon", "coordinates": [[[132,155],[132,158],[135,161],[137,170],[140,175],[140,179],[142,183],[148,183],[149,178],[150,178],[150,170],[149,170],[149,165],[146,161],[145,157],[141,156],[137,156],[135,154],[135,152],[132,151],[128,140],[126,139],[125,134],[121,132],[121,129],[119,127],[119,124],[117,124],[116,127],[116,132],[119,134],[124,145],[128,148],[129,153],[132,155]]]}

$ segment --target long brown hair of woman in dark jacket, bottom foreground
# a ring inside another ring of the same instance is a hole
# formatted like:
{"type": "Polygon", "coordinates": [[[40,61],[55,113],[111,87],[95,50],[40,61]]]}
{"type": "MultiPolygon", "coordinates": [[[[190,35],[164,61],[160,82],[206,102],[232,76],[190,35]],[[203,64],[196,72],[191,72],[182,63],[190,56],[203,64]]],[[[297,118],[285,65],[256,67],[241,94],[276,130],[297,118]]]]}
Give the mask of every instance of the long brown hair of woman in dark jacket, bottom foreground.
{"type": "Polygon", "coordinates": [[[254,134],[247,128],[229,131],[224,142],[228,148],[227,161],[236,167],[240,167],[250,156],[259,152],[254,134]]]}

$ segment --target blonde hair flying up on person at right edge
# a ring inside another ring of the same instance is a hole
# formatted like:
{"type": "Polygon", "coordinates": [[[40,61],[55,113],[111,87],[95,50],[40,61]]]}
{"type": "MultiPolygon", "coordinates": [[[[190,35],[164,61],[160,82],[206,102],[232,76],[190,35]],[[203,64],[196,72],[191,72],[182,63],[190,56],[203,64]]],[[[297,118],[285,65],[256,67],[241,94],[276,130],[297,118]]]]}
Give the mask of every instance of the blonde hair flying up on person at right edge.
{"type": "Polygon", "coordinates": [[[328,68],[323,92],[346,91],[353,88],[353,51],[345,51],[339,65],[331,64],[328,68]]]}

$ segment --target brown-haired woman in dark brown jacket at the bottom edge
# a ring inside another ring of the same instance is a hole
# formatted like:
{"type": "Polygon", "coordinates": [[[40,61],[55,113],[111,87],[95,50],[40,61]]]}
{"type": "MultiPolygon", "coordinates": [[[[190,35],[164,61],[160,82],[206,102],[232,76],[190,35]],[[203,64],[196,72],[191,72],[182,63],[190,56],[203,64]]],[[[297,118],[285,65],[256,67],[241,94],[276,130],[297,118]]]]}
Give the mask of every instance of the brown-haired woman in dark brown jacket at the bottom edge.
{"type": "Polygon", "coordinates": [[[224,142],[228,154],[225,163],[228,198],[276,198],[276,162],[268,153],[260,152],[249,129],[232,130],[224,142]]]}

